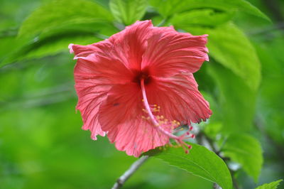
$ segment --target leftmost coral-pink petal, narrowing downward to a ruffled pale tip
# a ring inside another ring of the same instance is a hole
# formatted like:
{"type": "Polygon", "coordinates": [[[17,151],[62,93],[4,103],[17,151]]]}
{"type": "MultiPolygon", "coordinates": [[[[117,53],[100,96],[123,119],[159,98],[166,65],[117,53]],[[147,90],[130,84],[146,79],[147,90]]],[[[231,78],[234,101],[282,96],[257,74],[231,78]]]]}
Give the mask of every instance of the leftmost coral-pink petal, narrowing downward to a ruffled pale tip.
{"type": "Polygon", "coordinates": [[[92,139],[97,139],[97,134],[105,134],[98,122],[100,104],[113,85],[132,79],[131,72],[119,60],[93,53],[77,60],[74,75],[83,129],[92,131],[92,139]]]}

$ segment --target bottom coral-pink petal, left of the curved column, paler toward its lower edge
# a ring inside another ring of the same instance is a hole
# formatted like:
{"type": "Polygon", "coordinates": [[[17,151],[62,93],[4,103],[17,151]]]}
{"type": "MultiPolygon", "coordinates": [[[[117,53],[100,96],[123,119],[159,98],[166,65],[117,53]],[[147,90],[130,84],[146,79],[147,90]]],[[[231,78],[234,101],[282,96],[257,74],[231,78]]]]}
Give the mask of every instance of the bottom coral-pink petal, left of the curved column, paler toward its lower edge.
{"type": "MultiPolygon", "coordinates": [[[[116,85],[111,88],[99,109],[99,123],[107,131],[116,148],[129,156],[168,143],[168,136],[160,134],[147,120],[142,119],[143,103],[141,89],[137,84],[116,85]]],[[[169,131],[170,128],[164,128],[169,131]]]]}

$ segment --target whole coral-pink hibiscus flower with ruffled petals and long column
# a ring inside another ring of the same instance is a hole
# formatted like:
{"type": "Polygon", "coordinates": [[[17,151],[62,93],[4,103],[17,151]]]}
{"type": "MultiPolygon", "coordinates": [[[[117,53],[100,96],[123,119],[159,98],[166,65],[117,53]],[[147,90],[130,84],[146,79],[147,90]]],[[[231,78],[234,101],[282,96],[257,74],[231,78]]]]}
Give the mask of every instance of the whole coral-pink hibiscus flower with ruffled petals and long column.
{"type": "Polygon", "coordinates": [[[137,21],[99,43],[70,44],[82,128],[136,157],[170,139],[190,148],[182,140],[194,135],[173,131],[212,114],[192,75],[208,60],[206,43],[207,35],[137,21]]]}

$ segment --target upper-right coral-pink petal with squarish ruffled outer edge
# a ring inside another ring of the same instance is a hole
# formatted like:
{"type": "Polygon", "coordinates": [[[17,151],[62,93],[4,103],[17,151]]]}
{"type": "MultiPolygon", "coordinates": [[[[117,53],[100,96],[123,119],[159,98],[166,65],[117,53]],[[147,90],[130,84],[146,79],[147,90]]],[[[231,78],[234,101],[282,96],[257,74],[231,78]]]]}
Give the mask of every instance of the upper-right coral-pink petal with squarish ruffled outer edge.
{"type": "Polygon", "coordinates": [[[207,55],[207,35],[192,36],[178,33],[173,28],[153,28],[143,54],[142,69],[149,68],[151,75],[169,77],[180,71],[196,72],[207,55]]]}

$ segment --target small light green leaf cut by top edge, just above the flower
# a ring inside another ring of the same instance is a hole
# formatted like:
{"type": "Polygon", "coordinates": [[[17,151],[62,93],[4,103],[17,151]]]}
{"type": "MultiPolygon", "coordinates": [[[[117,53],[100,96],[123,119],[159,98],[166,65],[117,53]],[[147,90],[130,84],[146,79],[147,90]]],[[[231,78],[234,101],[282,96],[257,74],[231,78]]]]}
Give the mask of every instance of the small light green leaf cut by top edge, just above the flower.
{"type": "Polygon", "coordinates": [[[130,25],[140,20],[146,12],[148,0],[111,0],[109,7],[117,21],[130,25]]]}

